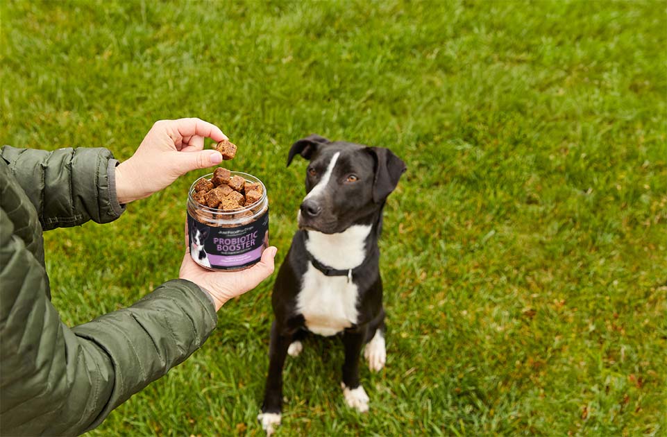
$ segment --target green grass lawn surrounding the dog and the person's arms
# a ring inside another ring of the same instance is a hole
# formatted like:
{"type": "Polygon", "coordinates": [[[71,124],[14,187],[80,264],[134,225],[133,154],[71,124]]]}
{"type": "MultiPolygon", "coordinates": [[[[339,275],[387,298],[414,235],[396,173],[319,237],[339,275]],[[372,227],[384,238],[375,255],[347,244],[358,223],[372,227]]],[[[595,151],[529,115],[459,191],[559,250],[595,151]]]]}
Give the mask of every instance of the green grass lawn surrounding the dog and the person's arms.
{"type": "MultiPolygon", "coordinates": [[[[217,123],[267,184],[282,262],[311,132],[388,146],[387,368],[344,406],[338,341],[285,370],[292,435],[667,435],[663,2],[4,3],[0,140],[130,157],[217,123]]],[[[202,174],[204,171],[201,172],[202,174]]],[[[66,323],[176,277],[190,174],[45,235],[66,323]]],[[[261,435],[272,280],[92,436],[261,435]]]]}

